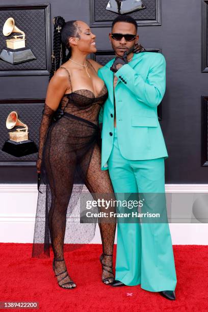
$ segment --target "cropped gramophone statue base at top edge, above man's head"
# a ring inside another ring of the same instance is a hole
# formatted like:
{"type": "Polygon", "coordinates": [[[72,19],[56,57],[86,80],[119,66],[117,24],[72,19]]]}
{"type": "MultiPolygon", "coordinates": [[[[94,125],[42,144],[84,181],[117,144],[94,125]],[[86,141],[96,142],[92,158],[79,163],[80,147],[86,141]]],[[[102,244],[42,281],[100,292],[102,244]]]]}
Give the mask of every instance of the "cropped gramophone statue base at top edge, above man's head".
{"type": "Polygon", "coordinates": [[[118,14],[125,14],[145,8],[146,6],[141,0],[110,0],[106,10],[118,14]]]}

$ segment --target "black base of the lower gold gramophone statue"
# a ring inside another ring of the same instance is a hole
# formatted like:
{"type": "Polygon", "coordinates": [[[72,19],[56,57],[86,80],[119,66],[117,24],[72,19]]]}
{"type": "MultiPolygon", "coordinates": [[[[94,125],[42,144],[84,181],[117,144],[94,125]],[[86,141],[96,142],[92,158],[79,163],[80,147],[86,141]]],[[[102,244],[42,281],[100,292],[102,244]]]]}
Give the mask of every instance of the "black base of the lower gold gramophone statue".
{"type": "Polygon", "coordinates": [[[38,152],[38,148],[32,140],[22,142],[7,140],[5,141],[2,151],[15,157],[22,157],[38,152]]]}

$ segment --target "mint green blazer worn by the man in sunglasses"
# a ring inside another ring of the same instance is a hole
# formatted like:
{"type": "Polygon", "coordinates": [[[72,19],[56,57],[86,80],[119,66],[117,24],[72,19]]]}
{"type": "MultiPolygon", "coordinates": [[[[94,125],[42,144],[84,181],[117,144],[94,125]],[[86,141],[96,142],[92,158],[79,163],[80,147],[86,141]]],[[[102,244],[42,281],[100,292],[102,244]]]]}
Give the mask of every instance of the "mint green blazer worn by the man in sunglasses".
{"type": "MultiPolygon", "coordinates": [[[[98,70],[109,96],[99,113],[102,123],[101,169],[108,169],[114,134],[114,59],[98,70]]],[[[161,53],[134,54],[128,64],[115,75],[116,127],[121,155],[128,160],[148,160],[164,157],[168,153],[158,121],[157,107],[166,89],[166,61],[161,53]]]]}

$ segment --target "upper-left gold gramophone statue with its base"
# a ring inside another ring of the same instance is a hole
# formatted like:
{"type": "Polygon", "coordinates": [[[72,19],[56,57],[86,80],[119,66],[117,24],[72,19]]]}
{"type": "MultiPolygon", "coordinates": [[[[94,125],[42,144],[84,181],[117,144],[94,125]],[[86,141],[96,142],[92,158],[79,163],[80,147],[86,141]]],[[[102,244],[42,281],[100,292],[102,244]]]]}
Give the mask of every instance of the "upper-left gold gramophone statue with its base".
{"type": "Polygon", "coordinates": [[[15,26],[14,18],[9,17],[3,27],[4,36],[12,33],[20,33],[11,39],[7,39],[7,47],[4,47],[0,58],[10,64],[19,64],[27,61],[36,60],[33,52],[29,48],[25,48],[25,34],[15,26]]]}

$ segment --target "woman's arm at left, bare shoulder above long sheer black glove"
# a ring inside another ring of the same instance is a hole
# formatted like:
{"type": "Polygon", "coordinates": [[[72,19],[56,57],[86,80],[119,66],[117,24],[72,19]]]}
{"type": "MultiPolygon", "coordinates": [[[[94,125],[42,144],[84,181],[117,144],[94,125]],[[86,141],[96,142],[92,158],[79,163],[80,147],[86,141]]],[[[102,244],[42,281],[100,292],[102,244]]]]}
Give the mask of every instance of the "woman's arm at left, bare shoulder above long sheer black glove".
{"type": "Polygon", "coordinates": [[[40,173],[43,146],[47,135],[48,127],[51,124],[54,113],[57,110],[59,103],[66,91],[69,88],[68,74],[65,69],[58,69],[51,78],[45,99],[44,109],[42,111],[42,120],[39,129],[39,151],[36,167],[40,173]]]}

